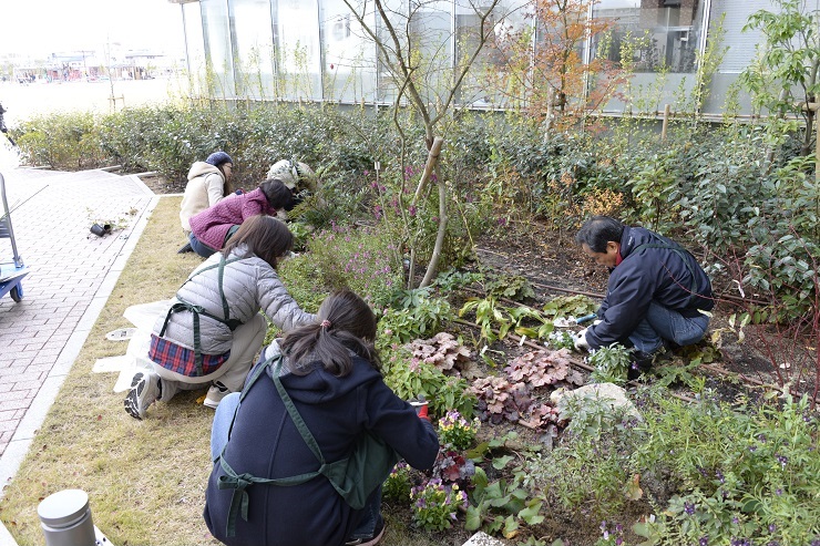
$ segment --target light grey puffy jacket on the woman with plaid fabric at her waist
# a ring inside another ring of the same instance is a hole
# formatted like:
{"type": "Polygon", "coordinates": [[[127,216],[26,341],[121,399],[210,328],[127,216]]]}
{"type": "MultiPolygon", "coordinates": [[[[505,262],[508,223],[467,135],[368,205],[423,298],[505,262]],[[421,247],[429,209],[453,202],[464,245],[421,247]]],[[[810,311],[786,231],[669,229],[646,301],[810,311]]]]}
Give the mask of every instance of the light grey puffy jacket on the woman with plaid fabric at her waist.
{"type": "MultiPolygon", "coordinates": [[[[244,245],[234,249],[228,260],[242,257],[225,266],[223,289],[232,319],[247,322],[262,309],[270,321],[284,331],[296,326],[316,321],[316,315],[303,311],[296,300],[288,293],[270,265],[250,254],[244,245]]],[[[217,253],[188,277],[188,280],[176,292],[174,302],[183,299],[217,317],[223,317],[222,298],[219,297],[218,268],[208,269],[202,275],[197,271],[219,262],[222,254],[217,253]]],[[[158,336],[165,322],[165,315],[154,323],[154,334],[158,336]]],[[[223,322],[205,315],[199,315],[201,343],[204,354],[225,354],[230,350],[233,332],[223,322]]],[[[194,313],[180,311],[171,315],[163,339],[186,349],[194,347],[194,313]]]]}

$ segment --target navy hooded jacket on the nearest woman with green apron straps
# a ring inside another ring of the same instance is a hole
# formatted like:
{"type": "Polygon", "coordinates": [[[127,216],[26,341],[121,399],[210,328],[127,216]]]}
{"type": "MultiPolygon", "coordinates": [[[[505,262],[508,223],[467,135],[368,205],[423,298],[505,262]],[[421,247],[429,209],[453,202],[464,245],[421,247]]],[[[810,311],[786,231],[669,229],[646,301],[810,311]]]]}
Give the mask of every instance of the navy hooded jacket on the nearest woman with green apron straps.
{"type": "MultiPolygon", "coordinates": [[[[276,343],[262,359],[278,353],[276,343]]],[[[259,365],[259,364],[257,364],[259,365]]],[[[319,463],[299,434],[271,379],[271,368],[248,389],[236,413],[224,456],[237,474],[287,477],[316,471],[319,463]]],[[[252,372],[253,374],[253,372],[252,372]]],[[[342,378],[315,362],[306,375],[283,367],[281,383],[327,462],[345,459],[362,431],[382,437],[410,466],[430,468],[439,440],[429,421],[385,384],[367,360],[353,358],[342,378]]],[[[365,511],[353,511],[325,476],[290,487],[253,484],[247,522],[236,516],[236,536],[226,536],[234,490],[219,488],[217,461],[205,492],[205,523],[230,546],[331,546],[345,544],[365,511]]]]}

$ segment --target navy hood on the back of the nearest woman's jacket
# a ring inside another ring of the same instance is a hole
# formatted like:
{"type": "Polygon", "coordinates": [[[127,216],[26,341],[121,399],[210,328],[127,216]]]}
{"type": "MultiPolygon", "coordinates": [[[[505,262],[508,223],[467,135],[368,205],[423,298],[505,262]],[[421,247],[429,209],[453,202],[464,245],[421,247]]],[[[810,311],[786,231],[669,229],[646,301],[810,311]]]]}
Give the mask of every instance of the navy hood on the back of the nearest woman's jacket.
{"type": "MultiPolygon", "coordinates": [[[[265,349],[262,358],[267,359],[278,354],[280,354],[279,347],[276,342],[273,342],[265,349]]],[[[327,403],[381,378],[381,373],[370,365],[367,360],[358,356],[351,358],[353,360],[353,369],[344,378],[338,378],[326,371],[320,362],[316,362],[310,373],[306,375],[290,373],[283,362],[279,370],[279,378],[291,399],[306,404],[327,403]]],[[[268,377],[271,377],[273,368],[268,368],[266,373],[268,377]]]]}

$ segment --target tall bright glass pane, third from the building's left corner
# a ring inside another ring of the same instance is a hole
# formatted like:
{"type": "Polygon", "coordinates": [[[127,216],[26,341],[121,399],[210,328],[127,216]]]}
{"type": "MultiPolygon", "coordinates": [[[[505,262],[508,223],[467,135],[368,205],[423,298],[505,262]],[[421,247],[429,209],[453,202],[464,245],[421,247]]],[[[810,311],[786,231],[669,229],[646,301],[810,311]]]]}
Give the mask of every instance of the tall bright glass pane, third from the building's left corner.
{"type": "Polygon", "coordinates": [[[274,34],[269,0],[232,0],[236,94],[274,99],[274,34]]]}

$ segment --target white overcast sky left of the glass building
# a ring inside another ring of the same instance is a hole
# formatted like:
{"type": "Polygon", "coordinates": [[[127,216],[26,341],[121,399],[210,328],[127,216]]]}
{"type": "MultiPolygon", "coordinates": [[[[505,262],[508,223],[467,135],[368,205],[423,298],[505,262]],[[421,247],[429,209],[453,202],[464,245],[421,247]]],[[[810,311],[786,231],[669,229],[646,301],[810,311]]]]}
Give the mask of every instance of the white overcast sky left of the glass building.
{"type": "Polygon", "coordinates": [[[48,55],[120,42],[178,53],[180,9],[168,0],[0,0],[0,52],[48,55]]]}

